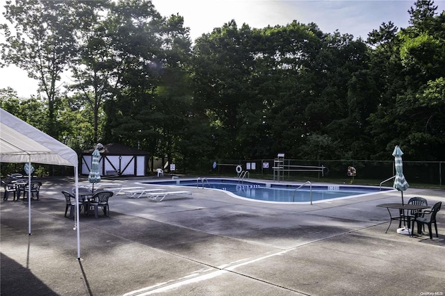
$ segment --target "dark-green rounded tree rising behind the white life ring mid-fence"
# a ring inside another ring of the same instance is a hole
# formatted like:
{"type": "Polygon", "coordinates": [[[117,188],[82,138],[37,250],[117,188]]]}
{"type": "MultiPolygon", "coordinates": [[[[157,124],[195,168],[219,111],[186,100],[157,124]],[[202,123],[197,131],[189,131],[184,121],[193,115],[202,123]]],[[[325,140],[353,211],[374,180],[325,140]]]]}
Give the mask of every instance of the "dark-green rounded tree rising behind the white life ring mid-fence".
{"type": "Polygon", "coordinates": [[[193,48],[196,110],[209,118],[222,158],[242,155],[237,133],[246,118],[241,106],[250,108],[254,104],[248,85],[254,64],[250,35],[249,26],[238,29],[232,20],[202,35],[193,48]]]}

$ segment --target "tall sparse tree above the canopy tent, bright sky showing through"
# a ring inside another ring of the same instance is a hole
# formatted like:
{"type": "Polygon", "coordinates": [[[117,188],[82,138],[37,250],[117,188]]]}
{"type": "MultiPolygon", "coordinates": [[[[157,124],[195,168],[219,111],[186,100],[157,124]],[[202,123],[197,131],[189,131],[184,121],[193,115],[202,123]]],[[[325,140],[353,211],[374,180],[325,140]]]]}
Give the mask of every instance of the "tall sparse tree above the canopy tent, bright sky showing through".
{"type": "Polygon", "coordinates": [[[57,102],[60,99],[60,75],[75,54],[74,31],[82,26],[81,13],[95,1],[6,2],[6,20],[2,24],[6,43],[1,44],[6,65],[15,64],[38,80],[39,90],[48,104],[44,131],[58,137],[57,102]]]}

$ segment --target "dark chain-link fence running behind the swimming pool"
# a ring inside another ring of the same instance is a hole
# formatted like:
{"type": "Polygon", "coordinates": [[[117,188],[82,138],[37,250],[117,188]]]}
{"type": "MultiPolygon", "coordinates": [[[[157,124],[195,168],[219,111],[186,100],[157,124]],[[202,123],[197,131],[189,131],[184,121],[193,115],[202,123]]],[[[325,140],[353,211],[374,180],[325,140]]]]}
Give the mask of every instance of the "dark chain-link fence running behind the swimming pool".
{"type": "MultiPolygon", "coordinates": [[[[242,171],[248,171],[249,176],[262,179],[277,178],[276,159],[252,159],[252,160],[218,160],[212,162],[197,162],[195,167],[189,167],[189,173],[215,174],[223,176],[238,176],[241,166],[242,171]],[[274,172],[275,171],[275,172],[274,172]]],[[[357,172],[355,181],[369,181],[379,184],[381,181],[391,178],[396,174],[394,161],[302,161],[284,159],[282,162],[281,180],[284,181],[348,181],[348,167],[355,167],[357,172]]],[[[445,185],[445,161],[404,161],[403,174],[408,183],[428,184],[432,186],[445,185]]],[[[385,183],[387,186],[389,183],[385,183]]]]}

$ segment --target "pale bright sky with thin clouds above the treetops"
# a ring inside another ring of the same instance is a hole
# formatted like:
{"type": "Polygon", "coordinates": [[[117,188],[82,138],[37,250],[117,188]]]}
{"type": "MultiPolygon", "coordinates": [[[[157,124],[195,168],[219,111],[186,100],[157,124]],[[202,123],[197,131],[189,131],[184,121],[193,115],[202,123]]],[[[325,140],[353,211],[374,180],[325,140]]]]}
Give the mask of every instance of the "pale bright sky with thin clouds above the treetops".
{"type": "MultiPolygon", "coordinates": [[[[410,15],[407,10],[415,0],[152,0],[156,10],[164,17],[179,14],[184,26],[190,28],[192,40],[213,28],[235,20],[238,28],[248,24],[251,28],[268,25],[285,26],[293,20],[301,24],[314,22],[323,33],[350,34],[366,40],[368,33],[385,22],[406,28],[410,15]]],[[[3,13],[4,0],[0,0],[3,13]]],[[[437,12],[445,10],[445,0],[435,0],[437,12]]],[[[6,23],[3,15],[0,23],[6,23]]],[[[0,42],[3,36],[0,35],[0,42]]],[[[0,68],[0,88],[10,86],[19,97],[36,94],[37,83],[15,66],[0,68]]]]}

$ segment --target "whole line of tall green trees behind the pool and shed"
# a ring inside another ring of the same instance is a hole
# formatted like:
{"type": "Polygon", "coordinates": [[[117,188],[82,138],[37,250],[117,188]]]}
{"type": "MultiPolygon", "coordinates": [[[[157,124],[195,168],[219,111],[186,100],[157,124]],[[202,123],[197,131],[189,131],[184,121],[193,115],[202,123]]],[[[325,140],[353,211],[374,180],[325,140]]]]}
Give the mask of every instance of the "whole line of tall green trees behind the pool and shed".
{"type": "Polygon", "coordinates": [[[445,11],[417,0],[409,26],[366,40],[316,24],[241,27],[192,43],[149,0],[6,3],[2,65],[39,83],[1,108],[76,151],[120,142],[194,160],[443,160],[445,11]],[[69,79],[63,79],[69,77],[69,79]],[[61,85],[63,83],[63,85],[61,85]]]}

